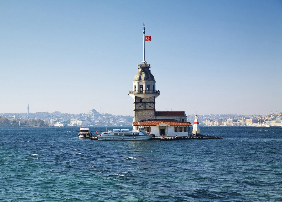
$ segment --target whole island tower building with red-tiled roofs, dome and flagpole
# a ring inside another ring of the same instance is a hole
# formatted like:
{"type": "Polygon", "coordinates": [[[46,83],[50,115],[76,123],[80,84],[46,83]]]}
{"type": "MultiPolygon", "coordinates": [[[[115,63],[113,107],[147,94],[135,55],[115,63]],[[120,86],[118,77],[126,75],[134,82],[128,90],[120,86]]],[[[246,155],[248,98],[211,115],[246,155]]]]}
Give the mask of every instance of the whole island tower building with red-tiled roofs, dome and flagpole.
{"type": "MultiPolygon", "coordinates": [[[[151,73],[151,65],[145,61],[145,23],[143,23],[143,61],[138,64],[138,72],[133,80],[133,90],[129,95],[133,103],[133,130],[138,125],[155,136],[189,136],[190,122],[187,122],[185,111],[156,111],[156,98],[160,91],[156,90],[156,81],[151,73]]],[[[150,37],[151,39],[151,37],[150,37]]]]}

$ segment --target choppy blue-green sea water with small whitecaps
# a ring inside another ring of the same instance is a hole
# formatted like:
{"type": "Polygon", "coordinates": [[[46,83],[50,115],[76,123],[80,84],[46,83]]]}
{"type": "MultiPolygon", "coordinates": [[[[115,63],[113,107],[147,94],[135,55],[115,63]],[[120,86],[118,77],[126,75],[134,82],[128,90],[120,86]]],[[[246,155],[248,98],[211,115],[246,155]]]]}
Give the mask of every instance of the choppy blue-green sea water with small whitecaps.
{"type": "Polygon", "coordinates": [[[90,141],[79,127],[0,127],[0,201],[282,201],[282,127],[200,130],[222,139],[90,141]]]}

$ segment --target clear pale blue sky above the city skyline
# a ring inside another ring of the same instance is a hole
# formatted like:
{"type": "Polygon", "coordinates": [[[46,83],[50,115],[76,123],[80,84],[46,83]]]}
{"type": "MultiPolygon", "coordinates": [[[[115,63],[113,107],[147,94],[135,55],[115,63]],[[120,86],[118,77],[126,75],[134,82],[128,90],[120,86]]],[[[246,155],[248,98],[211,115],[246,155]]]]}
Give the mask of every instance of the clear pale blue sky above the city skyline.
{"type": "Polygon", "coordinates": [[[133,116],[151,64],[156,111],[282,111],[281,0],[0,0],[0,113],[133,116]]]}

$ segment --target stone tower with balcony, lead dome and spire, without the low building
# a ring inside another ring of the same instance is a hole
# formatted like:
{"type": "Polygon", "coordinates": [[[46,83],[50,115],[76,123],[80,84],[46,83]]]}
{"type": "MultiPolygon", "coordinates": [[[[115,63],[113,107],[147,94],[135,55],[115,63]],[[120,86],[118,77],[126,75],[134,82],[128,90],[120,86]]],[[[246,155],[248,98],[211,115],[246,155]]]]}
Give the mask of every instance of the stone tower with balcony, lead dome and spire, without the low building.
{"type": "Polygon", "coordinates": [[[145,61],[145,22],[143,23],[143,61],[138,64],[138,72],[133,80],[133,90],[129,95],[134,99],[133,122],[155,118],[155,99],[160,95],[151,73],[151,65],[145,61]]]}

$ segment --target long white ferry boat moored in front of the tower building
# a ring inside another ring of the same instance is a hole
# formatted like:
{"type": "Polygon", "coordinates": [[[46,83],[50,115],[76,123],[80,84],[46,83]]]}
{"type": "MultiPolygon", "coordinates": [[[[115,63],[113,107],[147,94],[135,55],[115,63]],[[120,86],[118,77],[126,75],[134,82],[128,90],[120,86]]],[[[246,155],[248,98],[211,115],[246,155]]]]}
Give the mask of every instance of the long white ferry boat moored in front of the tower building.
{"type": "Polygon", "coordinates": [[[129,131],[129,129],[113,129],[103,132],[98,140],[149,140],[154,136],[150,132],[146,132],[143,126],[138,130],[129,131]]]}

